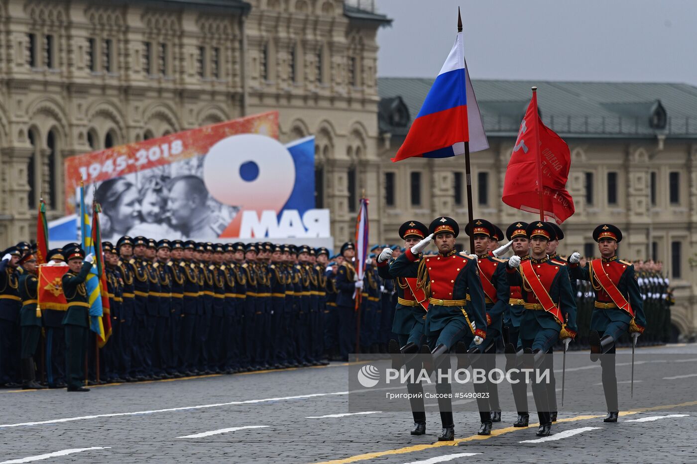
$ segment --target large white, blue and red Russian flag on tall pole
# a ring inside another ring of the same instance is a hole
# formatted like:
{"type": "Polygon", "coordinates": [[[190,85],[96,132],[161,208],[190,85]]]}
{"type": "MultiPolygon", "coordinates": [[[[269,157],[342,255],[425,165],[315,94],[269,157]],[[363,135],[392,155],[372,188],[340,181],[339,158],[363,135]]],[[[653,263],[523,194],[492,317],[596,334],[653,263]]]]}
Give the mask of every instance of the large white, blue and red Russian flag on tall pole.
{"type": "Polygon", "coordinates": [[[447,158],[489,148],[475,91],[465,62],[463,33],[458,32],[436,82],[411,124],[393,162],[411,157],[447,158]]]}

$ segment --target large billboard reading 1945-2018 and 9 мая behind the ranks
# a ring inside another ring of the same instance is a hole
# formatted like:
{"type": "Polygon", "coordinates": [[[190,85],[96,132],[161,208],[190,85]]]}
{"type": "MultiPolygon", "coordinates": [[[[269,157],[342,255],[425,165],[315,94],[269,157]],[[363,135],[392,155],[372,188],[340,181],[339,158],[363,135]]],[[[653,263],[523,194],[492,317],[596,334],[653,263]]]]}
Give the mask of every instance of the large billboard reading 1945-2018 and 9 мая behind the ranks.
{"type": "Polygon", "coordinates": [[[106,241],[328,238],[329,212],[314,209],[314,137],[286,146],[277,137],[270,111],[70,157],[66,213],[83,179],[106,241]]]}

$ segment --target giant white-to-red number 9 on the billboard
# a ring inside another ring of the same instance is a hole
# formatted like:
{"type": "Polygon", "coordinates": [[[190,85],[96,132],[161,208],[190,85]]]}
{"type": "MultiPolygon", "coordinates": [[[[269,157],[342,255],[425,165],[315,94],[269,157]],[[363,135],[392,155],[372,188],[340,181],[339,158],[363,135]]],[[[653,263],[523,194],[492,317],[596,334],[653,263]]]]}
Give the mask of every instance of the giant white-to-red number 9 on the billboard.
{"type": "MultiPolygon", "coordinates": [[[[227,137],[210,147],[204,160],[204,183],[220,203],[242,210],[280,212],[296,183],[291,153],[276,139],[258,134],[227,137]]],[[[231,227],[239,227],[241,214],[231,227]]],[[[233,235],[234,236],[234,235],[233,235]]]]}

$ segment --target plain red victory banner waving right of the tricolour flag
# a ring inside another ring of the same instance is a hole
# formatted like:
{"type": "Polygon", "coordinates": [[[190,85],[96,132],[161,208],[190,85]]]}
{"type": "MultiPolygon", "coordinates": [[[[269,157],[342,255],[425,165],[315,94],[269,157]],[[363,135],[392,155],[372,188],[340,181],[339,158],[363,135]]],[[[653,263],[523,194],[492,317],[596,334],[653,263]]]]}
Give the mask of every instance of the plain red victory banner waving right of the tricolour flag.
{"type": "Polygon", "coordinates": [[[503,202],[561,224],[574,214],[574,199],[566,190],[570,167],[569,146],[542,123],[537,113],[537,87],[533,87],[506,169],[503,202]]]}

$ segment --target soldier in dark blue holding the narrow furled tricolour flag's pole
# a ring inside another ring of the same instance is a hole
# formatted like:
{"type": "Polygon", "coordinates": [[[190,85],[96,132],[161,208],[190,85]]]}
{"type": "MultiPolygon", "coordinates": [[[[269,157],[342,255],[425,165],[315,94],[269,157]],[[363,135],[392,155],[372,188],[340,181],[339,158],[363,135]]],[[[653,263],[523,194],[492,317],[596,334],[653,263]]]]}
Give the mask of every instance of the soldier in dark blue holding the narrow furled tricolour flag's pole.
{"type": "Polygon", "coordinates": [[[353,268],[355,245],[346,242],[342,245],[341,255],[344,263],[337,270],[337,313],[339,314],[339,356],[342,361],[348,361],[348,353],[351,353],[355,335],[355,300],[353,294],[362,291],[363,281],[356,280],[353,268]]]}

